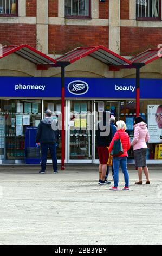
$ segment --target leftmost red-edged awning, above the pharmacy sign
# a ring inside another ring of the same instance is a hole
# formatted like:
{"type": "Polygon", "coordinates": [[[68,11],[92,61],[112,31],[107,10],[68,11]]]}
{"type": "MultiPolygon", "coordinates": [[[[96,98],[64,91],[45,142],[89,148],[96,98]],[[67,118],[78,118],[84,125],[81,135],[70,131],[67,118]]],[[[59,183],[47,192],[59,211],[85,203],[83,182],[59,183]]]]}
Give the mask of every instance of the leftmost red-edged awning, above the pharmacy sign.
{"type": "Polygon", "coordinates": [[[8,56],[11,53],[16,53],[22,56],[23,58],[30,60],[30,62],[33,62],[36,65],[47,65],[56,63],[55,59],[50,58],[46,54],[36,50],[35,48],[27,44],[1,47],[0,59],[2,59],[5,56],[8,56]]]}

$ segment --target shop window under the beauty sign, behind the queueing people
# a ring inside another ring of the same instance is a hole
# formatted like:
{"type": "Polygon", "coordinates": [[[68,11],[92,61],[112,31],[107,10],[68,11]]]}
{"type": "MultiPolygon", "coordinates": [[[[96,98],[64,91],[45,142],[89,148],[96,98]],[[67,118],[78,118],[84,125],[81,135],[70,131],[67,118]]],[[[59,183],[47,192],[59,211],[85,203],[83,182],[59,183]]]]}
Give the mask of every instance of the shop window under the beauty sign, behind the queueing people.
{"type": "MultiPolygon", "coordinates": [[[[136,117],[135,100],[96,101],[96,111],[98,111],[101,104],[103,110],[111,111],[116,121],[125,121],[126,132],[132,141],[133,125],[136,117]]],[[[162,100],[140,100],[140,116],[147,124],[150,134],[150,140],[147,143],[147,159],[162,160],[162,100]]],[[[98,159],[97,151],[95,156],[95,159],[98,159]]],[[[128,159],[134,159],[133,147],[128,151],[128,159]]]]}

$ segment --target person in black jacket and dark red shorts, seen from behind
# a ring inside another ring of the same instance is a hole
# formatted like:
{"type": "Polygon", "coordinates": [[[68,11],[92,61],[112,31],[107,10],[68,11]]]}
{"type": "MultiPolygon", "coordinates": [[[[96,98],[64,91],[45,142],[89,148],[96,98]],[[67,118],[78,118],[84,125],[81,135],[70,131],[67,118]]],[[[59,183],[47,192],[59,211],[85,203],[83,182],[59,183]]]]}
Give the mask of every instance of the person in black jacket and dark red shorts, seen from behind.
{"type": "Polygon", "coordinates": [[[112,127],[109,124],[109,111],[103,111],[103,118],[96,127],[96,145],[99,155],[99,184],[108,184],[110,182],[105,180],[107,161],[109,157],[108,147],[112,141],[113,133],[112,127]]]}

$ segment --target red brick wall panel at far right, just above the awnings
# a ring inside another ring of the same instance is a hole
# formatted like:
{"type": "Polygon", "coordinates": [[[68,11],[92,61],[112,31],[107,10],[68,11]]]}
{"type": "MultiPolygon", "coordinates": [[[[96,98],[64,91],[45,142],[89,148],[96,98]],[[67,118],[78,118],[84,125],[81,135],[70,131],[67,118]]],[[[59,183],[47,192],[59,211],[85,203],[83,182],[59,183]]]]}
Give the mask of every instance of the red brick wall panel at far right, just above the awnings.
{"type": "Polygon", "coordinates": [[[162,28],[120,27],[120,54],[133,56],[162,42],[162,28]]]}

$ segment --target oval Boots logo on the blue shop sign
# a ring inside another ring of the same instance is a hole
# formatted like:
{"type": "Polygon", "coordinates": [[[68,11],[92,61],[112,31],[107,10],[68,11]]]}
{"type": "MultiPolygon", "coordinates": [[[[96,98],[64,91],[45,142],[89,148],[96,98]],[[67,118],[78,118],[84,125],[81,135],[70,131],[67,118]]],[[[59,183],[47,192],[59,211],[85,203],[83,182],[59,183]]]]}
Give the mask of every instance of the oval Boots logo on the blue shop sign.
{"type": "Polygon", "coordinates": [[[88,89],[88,84],[81,80],[75,80],[68,84],[68,91],[75,95],[85,94],[87,93],[88,89]]]}

